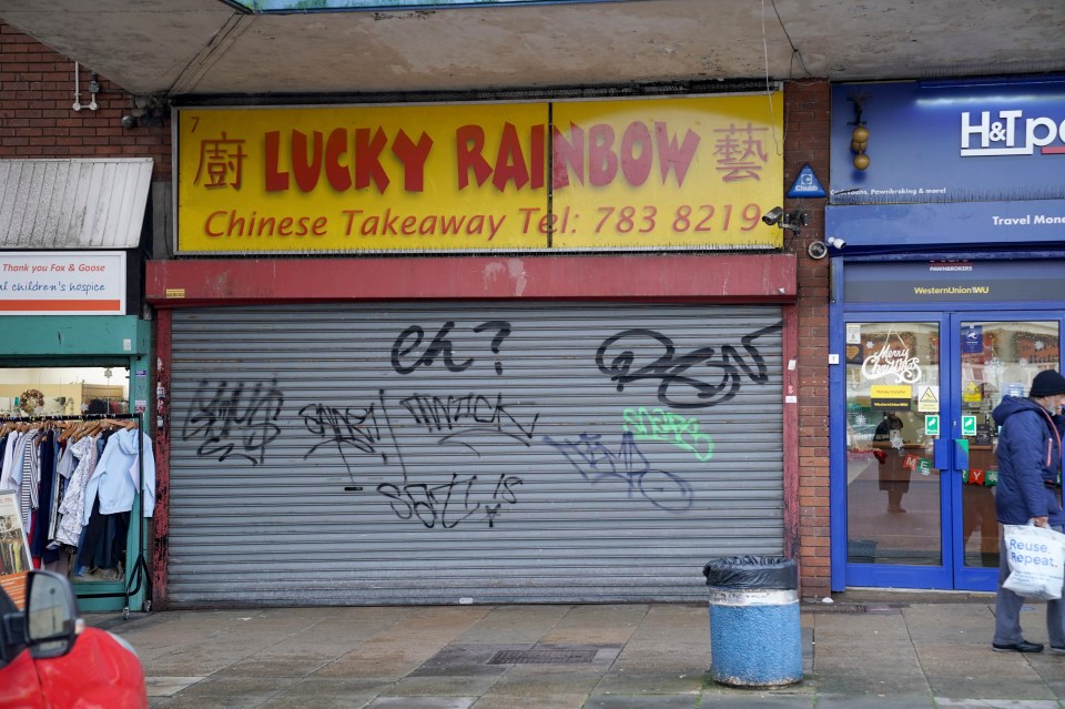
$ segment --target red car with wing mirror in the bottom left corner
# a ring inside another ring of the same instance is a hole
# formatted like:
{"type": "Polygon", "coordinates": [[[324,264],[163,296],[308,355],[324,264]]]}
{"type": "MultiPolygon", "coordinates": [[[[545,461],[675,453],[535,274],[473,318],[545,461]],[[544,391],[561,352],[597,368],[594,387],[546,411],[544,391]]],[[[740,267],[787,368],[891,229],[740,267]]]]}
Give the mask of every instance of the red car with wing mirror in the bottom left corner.
{"type": "Polygon", "coordinates": [[[87,628],[70,583],[30,571],[26,610],[0,588],[0,707],[142,709],[144,670],[133,647],[87,628]]]}

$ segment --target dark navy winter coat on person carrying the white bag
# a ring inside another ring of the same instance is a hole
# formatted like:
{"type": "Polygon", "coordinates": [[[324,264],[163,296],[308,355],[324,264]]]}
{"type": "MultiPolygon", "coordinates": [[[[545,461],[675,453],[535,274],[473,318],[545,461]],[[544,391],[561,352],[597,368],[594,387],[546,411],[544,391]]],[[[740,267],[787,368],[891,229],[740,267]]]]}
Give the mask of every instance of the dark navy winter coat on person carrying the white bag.
{"type": "Polygon", "coordinates": [[[1062,437],[1046,411],[1028,398],[1006,396],[991,414],[998,424],[998,521],[1024,525],[1033,517],[1049,517],[1065,525],[1061,484],[1062,437]]]}

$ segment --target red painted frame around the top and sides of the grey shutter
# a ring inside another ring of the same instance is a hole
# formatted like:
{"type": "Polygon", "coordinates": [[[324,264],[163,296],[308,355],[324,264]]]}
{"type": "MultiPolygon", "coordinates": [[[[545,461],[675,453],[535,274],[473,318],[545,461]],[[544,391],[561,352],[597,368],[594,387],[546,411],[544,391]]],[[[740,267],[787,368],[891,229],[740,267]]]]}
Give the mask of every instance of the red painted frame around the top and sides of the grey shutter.
{"type": "Polygon", "coordinates": [[[152,604],[166,607],[171,315],[174,308],[410,300],[780,304],[783,336],[784,554],[799,557],[798,264],[793,254],[189,259],[151,261],[156,308],[156,505],[152,604]]]}

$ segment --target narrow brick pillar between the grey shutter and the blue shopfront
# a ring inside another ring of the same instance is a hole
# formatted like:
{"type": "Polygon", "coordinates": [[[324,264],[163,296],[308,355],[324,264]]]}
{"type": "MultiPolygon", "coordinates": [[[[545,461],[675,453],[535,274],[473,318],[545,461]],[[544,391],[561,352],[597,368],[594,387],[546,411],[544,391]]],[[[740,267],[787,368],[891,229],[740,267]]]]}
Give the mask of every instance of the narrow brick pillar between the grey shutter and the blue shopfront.
{"type": "MultiPolygon", "coordinates": [[[[790,82],[784,88],[784,190],[805,163],[829,188],[830,88],[826,81],[790,82]]],[[[826,200],[788,200],[810,224],[789,251],[798,259],[799,301],[799,559],[803,597],[829,595],[829,260],[807,255],[824,240],[826,200]]],[[[790,236],[785,232],[785,240],[790,236]]]]}

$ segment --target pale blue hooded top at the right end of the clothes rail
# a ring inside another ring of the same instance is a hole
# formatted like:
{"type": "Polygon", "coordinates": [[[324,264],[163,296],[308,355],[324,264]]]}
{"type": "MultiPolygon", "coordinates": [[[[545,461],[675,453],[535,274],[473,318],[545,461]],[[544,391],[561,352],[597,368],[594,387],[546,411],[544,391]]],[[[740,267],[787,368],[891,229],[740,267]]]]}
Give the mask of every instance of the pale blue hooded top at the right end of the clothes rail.
{"type": "Polygon", "coordinates": [[[141,477],[141,462],[138,459],[138,439],[140,439],[143,460],[144,494],[142,514],[151,517],[155,512],[155,457],[152,455],[152,442],[146,434],[138,429],[124,428],[108,438],[103,455],[97,462],[97,469],[89,478],[85,488],[83,524],[89,524],[92,504],[100,498],[100,514],[113,515],[133,509],[138,479],[141,477]]]}

